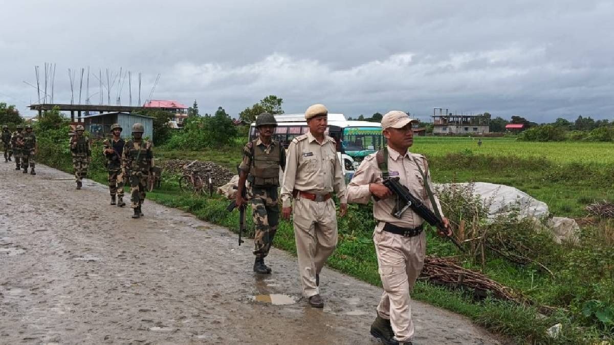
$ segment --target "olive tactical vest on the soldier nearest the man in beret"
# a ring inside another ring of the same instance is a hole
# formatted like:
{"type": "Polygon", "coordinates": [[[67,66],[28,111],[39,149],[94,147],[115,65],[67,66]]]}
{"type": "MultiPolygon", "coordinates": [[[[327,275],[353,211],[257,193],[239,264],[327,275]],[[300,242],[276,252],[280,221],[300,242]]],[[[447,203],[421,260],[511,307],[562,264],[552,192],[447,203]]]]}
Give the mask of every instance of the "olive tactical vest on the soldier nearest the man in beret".
{"type": "Polygon", "coordinates": [[[279,185],[279,163],[281,163],[281,145],[271,142],[271,152],[268,154],[262,147],[252,141],[252,166],[249,169],[249,181],[253,185],[279,185]]]}

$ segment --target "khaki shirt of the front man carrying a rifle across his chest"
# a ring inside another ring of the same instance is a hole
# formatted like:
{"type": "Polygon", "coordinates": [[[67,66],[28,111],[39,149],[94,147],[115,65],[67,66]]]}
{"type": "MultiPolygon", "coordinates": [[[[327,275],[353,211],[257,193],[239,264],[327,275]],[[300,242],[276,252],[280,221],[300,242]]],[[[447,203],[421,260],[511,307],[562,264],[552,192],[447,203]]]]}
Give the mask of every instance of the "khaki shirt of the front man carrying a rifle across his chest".
{"type": "MultiPolygon", "coordinates": [[[[359,168],[357,169],[351,182],[348,184],[348,201],[350,203],[366,204],[371,199],[369,192],[369,184],[381,183],[383,181],[381,170],[378,168],[378,162],[375,158],[376,153],[372,153],[365,157],[359,168]]],[[[418,166],[414,161],[414,157],[421,164],[422,172],[427,174],[427,182],[430,189],[433,190],[433,184],[430,180],[429,165],[426,158],[418,153],[410,153],[401,155],[391,147],[388,147],[388,172],[391,177],[399,177],[399,182],[405,185],[416,198],[421,200],[427,206],[430,206],[429,196],[424,188],[422,175],[418,171],[418,166]]],[[[434,196],[437,208],[441,211],[441,204],[437,196],[434,196]]],[[[392,209],[396,204],[394,195],[389,196],[385,200],[373,201],[373,217],[379,222],[386,222],[404,228],[415,228],[422,224],[424,220],[413,212],[407,209],[403,212],[401,219],[391,215],[392,209]]],[[[431,207],[432,209],[432,207],[431,207]]],[[[381,227],[380,227],[381,228],[381,227]]]]}

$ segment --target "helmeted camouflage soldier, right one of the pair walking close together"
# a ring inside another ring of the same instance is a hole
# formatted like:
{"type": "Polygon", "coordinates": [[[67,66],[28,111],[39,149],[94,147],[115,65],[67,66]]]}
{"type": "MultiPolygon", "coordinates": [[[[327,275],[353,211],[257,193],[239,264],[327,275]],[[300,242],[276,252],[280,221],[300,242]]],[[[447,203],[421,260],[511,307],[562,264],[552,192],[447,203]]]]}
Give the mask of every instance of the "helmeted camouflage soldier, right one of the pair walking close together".
{"type": "Polygon", "coordinates": [[[143,216],[141,205],[145,201],[147,179],[153,167],[152,143],[144,141],[142,123],[132,125],[133,139],[126,142],[122,153],[122,174],[130,179],[130,201],[133,218],[143,216]]]}

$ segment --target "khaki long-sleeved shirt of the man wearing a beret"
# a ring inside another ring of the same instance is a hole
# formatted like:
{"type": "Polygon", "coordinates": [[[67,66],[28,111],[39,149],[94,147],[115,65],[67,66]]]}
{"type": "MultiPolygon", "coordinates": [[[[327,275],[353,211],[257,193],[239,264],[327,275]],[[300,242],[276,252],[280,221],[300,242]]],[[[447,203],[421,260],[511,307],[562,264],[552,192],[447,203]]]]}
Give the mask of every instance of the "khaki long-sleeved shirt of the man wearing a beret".
{"type": "Polygon", "coordinates": [[[295,189],[320,195],[334,191],[342,204],[348,202],[335,139],[330,136],[324,136],[322,144],[310,132],[292,139],[284,172],[281,185],[283,207],[292,206],[292,190],[295,189]]]}

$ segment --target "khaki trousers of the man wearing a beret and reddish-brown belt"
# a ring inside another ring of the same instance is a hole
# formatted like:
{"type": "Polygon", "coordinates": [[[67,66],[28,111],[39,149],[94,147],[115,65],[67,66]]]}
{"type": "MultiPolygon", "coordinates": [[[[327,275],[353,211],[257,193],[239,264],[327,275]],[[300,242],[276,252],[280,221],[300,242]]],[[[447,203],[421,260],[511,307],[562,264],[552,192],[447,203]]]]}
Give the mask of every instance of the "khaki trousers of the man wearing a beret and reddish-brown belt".
{"type": "Polygon", "coordinates": [[[311,201],[297,197],[294,201],[294,238],[297,242],[298,271],[303,295],[318,295],[316,274],[320,274],[326,259],[337,245],[335,203],[311,201]]]}

